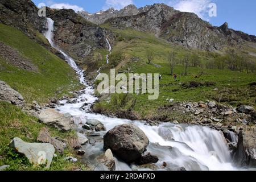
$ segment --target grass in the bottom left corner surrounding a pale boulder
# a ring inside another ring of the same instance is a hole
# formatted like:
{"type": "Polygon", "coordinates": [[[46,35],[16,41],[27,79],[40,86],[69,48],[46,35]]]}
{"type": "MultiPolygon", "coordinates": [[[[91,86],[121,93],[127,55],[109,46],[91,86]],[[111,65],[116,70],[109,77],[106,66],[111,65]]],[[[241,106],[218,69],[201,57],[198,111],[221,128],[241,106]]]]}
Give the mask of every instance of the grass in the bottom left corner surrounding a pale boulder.
{"type": "MultiPolygon", "coordinates": [[[[8,170],[46,170],[43,166],[33,167],[26,157],[8,146],[15,137],[21,138],[24,142],[37,142],[39,131],[45,126],[38,123],[36,118],[28,116],[18,107],[6,102],[0,102],[0,118],[0,166],[10,165],[8,170]]],[[[53,128],[49,131],[52,137],[62,139],[75,136],[75,131],[62,133],[53,128]]],[[[73,170],[82,167],[80,163],[74,164],[64,160],[66,156],[72,156],[72,153],[71,147],[67,147],[63,155],[57,154],[48,170],[73,170]]]]}

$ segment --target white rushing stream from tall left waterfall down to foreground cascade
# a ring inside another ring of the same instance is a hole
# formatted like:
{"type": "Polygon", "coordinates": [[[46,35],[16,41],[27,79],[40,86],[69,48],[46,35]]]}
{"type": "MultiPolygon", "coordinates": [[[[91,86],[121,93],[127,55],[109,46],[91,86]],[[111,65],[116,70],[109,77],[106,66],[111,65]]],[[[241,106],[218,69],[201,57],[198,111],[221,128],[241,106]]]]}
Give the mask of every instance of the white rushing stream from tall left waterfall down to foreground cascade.
{"type": "MultiPolygon", "coordinates": [[[[129,119],[111,118],[101,114],[89,113],[88,110],[90,106],[97,100],[93,95],[93,87],[86,84],[84,72],[77,67],[75,61],[52,42],[54,22],[49,18],[47,18],[47,22],[48,31],[45,35],[49,43],[52,47],[63,53],[68,64],[71,65],[80,76],[81,84],[86,86],[84,90],[81,90],[81,94],[77,98],[77,103],[67,104],[67,100],[63,100],[60,101],[60,103],[64,105],[60,105],[56,108],[60,113],[71,114],[79,129],[81,129],[82,124],[85,124],[88,119],[101,121],[107,130],[113,129],[114,126],[123,123],[134,123],[134,125],[137,125],[144,131],[150,140],[147,151],[158,156],[159,162],[156,163],[156,166],[159,168],[162,166],[163,162],[166,162],[167,168],[165,169],[170,170],[175,170],[179,167],[184,167],[187,170],[237,169],[232,164],[227,144],[224,142],[221,134],[216,130],[202,126],[174,125],[172,123],[164,123],[160,126],[148,126],[145,125],[143,121],[131,121],[129,119]],[[86,109],[81,110],[80,107],[85,104],[87,105],[86,109]]],[[[105,132],[99,132],[99,134],[103,137],[105,132]]],[[[86,144],[83,148],[86,154],[82,160],[85,162],[87,162],[87,160],[90,160],[92,163],[95,162],[96,156],[102,154],[102,148],[102,142],[96,143],[94,146],[86,144]]],[[[115,166],[116,170],[137,169],[137,166],[128,166],[118,159],[115,159],[115,166]]],[[[95,169],[105,170],[106,168],[97,164],[95,169]]]]}

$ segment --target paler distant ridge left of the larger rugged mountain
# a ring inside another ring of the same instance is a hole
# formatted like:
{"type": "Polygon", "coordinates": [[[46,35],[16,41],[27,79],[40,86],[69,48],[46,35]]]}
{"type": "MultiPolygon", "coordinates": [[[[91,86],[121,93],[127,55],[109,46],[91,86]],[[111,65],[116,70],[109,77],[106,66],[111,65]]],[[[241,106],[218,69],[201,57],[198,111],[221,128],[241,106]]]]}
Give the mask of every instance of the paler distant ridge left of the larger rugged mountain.
{"type": "Polygon", "coordinates": [[[106,11],[99,11],[98,13],[90,14],[86,11],[78,12],[81,16],[87,19],[89,22],[94,24],[102,24],[105,23],[106,20],[110,18],[118,18],[123,16],[132,16],[139,13],[139,10],[134,5],[129,5],[124,9],[118,11],[114,10],[113,8],[106,10],[106,11]]]}

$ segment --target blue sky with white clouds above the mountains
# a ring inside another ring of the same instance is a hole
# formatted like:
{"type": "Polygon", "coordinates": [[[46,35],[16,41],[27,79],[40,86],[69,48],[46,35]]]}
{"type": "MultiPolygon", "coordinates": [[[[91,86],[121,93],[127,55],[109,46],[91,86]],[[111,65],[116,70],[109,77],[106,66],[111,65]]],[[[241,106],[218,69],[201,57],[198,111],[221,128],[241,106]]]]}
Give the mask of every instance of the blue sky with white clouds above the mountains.
{"type": "Polygon", "coordinates": [[[53,8],[71,8],[75,11],[85,10],[95,13],[100,10],[121,9],[129,4],[137,7],[166,3],[180,11],[196,13],[214,26],[228,22],[229,27],[247,34],[256,35],[256,1],[255,0],[32,0],[36,5],[44,3],[53,8]],[[216,3],[217,16],[209,17],[209,3],[216,3]]]}

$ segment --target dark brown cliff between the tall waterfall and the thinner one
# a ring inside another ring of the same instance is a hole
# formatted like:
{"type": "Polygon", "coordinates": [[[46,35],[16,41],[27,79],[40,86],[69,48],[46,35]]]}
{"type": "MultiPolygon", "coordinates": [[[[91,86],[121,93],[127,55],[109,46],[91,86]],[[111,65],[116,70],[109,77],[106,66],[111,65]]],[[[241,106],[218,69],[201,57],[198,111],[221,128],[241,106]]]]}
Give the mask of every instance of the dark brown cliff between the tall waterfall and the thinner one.
{"type": "Polygon", "coordinates": [[[108,48],[105,33],[73,10],[47,9],[47,16],[55,21],[54,41],[79,63],[97,48],[108,48]]]}

